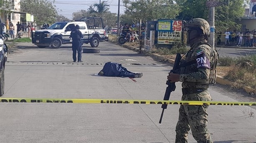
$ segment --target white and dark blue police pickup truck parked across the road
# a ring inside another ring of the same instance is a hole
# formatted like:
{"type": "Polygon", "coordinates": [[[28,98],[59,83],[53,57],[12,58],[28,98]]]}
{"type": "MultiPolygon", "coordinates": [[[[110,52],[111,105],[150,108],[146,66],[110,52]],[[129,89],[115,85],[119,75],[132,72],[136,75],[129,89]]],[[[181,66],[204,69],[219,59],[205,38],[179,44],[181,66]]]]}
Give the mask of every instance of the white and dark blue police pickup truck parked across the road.
{"type": "Polygon", "coordinates": [[[70,33],[76,25],[80,26],[80,31],[83,34],[83,43],[90,43],[90,46],[98,47],[99,41],[105,40],[106,33],[103,29],[102,18],[83,17],[75,21],[56,22],[48,27],[48,29],[35,31],[32,33],[32,43],[39,48],[47,46],[60,48],[62,44],[71,44],[70,33]]]}

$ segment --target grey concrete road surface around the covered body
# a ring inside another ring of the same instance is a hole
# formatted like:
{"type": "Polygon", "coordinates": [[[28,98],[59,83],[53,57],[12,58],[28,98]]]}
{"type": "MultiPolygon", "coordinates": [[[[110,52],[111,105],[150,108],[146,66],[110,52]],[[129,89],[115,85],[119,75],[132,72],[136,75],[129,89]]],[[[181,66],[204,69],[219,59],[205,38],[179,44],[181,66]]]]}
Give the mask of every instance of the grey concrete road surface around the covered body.
{"type": "MultiPolygon", "coordinates": [[[[83,63],[71,62],[71,45],[17,46],[6,64],[3,97],[161,100],[171,69],[168,63],[108,42],[100,42],[100,53],[83,53],[83,63]],[[95,75],[108,61],[143,77],[134,82],[95,75]]],[[[181,83],[176,86],[171,100],[181,99],[181,83]]],[[[213,100],[256,101],[226,88],[210,87],[213,100]]],[[[0,103],[0,143],[174,143],[178,109],[168,105],[158,124],[161,105],[0,103]]],[[[211,105],[208,128],[214,143],[256,143],[255,113],[248,106],[211,105]]],[[[196,143],[191,132],[189,143],[196,143]]]]}

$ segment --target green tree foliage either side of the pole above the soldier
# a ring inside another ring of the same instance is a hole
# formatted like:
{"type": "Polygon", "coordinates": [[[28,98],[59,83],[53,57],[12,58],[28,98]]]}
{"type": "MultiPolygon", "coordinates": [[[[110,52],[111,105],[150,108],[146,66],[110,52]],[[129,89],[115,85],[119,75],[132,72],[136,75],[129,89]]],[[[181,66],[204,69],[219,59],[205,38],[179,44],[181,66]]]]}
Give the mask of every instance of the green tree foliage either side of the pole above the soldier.
{"type": "MultiPolygon", "coordinates": [[[[207,0],[176,0],[181,6],[178,19],[189,20],[192,18],[203,18],[208,20],[209,8],[206,7],[207,0]]],[[[240,29],[237,20],[244,15],[246,3],[244,0],[219,0],[220,6],[215,7],[215,27],[217,31],[228,28],[240,29]],[[229,1],[229,3],[228,3],[229,1]]]]}

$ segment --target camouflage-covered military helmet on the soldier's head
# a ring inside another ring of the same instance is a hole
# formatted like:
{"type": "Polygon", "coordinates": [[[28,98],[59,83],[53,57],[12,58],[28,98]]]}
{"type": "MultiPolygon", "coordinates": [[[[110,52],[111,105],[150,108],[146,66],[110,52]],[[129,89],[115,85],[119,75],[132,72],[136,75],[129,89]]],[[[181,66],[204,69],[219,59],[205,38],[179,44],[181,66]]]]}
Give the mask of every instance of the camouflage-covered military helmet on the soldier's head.
{"type": "Polygon", "coordinates": [[[191,19],[186,22],[184,26],[188,27],[188,29],[199,28],[203,30],[203,34],[210,34],[210,25],[205,19],[202,18],[191,19]]]}

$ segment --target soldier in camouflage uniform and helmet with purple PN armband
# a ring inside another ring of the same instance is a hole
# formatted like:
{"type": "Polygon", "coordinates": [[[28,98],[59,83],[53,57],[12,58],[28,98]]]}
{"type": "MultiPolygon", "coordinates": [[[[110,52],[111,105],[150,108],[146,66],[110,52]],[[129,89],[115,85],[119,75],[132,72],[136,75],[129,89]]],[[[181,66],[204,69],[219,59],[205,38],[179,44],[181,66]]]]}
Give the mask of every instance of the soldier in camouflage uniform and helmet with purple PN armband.
{"type": "MultiPolygon", "coordinates": [[[[182,82],[182,100],[211,101],[208,92],[211,46],[207,43],[210,26],[205,19],[195,18],[184,24],[191,49],[181,63],[179,74],[169,73],[171,82],[182,82]]],[[[188,143],[188,131],[198,143],[213,143],[207,128],[208,105],[181,105],[176,125],[175,143],[188,143]]]]}

